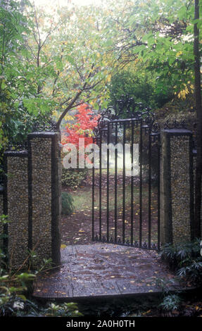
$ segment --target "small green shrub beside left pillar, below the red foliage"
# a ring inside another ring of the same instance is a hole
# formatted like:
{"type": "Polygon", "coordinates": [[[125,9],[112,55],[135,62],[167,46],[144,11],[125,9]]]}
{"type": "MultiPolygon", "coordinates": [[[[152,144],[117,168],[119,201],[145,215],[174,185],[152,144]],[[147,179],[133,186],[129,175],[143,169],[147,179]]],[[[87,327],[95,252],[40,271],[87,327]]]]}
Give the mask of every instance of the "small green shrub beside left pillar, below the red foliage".
{"type": "Polygon", "coordinates": [[[87,173],[88,173],[87,168],[84,169],[63,168],[62,184],[65,185],[65,187],[71,187],[72,189],[76,189],[86,179],[87,173]]]}

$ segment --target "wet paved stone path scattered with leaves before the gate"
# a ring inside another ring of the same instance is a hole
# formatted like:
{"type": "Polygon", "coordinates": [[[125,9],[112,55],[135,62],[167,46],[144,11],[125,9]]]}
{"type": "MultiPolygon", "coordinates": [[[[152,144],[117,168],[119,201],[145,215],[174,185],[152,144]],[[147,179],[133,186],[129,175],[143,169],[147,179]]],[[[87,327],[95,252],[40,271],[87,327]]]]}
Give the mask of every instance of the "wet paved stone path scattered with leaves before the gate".
{"type": "Polygon", "coordinates": [[[174,277],[156,251],[130,246],[71,245],[62,249],[61,256],[60,270],[37,277],[35,297],[79,299],[160,292],[156,280],[174,277]]]}

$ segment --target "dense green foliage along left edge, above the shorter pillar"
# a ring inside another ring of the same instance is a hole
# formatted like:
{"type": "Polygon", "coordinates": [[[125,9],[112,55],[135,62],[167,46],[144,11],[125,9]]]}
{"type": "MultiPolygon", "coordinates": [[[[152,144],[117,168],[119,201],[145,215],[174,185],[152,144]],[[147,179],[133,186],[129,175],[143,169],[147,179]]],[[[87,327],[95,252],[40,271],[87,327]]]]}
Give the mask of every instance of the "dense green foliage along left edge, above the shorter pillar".
{"type": "Polygon", "coordinates": [[[2,0],[0,20],[0,149],[5,149],[8,142],[23,142],[36,120],[44,123],[52,104],[37,95],[26,45],[31,21],[20,1],[2,0]]]}

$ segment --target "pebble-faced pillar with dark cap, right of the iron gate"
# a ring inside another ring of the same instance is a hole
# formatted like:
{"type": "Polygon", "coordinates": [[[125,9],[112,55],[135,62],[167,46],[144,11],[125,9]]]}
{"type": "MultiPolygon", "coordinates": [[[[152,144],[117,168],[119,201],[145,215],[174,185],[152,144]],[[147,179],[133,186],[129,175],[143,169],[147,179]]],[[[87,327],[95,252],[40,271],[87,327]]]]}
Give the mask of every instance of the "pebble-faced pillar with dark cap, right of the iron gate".
{"type": "Polygon", "coordinates": [[[160,237],[161,243],[191,240],[194,217],[192,133],[161,131],[160,237]]]}

